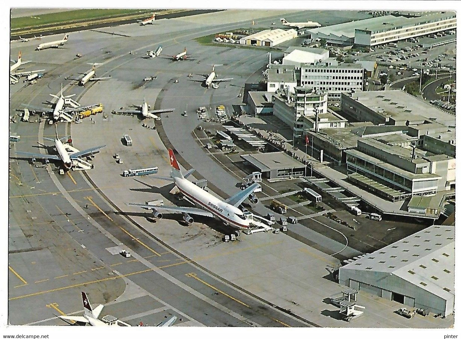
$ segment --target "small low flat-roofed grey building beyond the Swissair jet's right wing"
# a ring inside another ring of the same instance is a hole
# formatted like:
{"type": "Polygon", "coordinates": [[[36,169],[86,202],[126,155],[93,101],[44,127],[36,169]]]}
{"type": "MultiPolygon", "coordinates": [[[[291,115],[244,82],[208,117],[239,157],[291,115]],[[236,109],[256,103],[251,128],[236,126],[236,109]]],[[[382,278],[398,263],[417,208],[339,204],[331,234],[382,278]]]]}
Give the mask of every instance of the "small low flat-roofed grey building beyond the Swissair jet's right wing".
{"type": "Polygon", "coordinates": [[[303,176],[306,166],[285,152],[256,153],[240,156],[245,163],[262,173],[266,179],[303,176]]]}

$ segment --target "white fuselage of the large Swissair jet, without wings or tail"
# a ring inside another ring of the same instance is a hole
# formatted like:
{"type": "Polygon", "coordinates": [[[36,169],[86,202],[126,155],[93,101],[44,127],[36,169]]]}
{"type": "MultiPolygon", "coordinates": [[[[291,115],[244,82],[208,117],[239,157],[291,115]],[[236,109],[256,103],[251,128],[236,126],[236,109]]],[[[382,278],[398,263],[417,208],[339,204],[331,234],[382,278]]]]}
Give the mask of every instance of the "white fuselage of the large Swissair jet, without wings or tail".
{"type": "Polygon", "coordinates": [[[211,212],[225,223],[237,228],[249,228],[250,222],[243,219],[243,213],[237,207],[227,204],[219,198],[204,191],[187,179],[175,177],[175,184],[179,191],[201,209],[211,212]]]}

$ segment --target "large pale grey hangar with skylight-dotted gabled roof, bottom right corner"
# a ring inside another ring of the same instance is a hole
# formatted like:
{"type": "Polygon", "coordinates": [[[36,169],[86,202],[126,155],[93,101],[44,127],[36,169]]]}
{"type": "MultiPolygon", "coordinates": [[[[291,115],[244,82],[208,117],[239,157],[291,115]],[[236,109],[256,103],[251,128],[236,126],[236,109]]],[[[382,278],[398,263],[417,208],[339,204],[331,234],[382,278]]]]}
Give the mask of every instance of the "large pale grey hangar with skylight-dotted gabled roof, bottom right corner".
{"type": "Polygon", "coordinates": [[[339,269],[339,283],[448,316],[455,306],[455,228],[434,225],[339,269]]]}

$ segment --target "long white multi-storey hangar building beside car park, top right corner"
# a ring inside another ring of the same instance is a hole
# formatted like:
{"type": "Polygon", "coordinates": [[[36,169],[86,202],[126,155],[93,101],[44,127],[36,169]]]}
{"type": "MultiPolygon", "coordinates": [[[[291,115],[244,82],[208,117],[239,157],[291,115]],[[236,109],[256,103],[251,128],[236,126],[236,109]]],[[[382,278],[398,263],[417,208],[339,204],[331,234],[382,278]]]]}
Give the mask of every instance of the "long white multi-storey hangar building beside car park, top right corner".
{"type": "Polygon", "coordinates": [[[310,29],[311,39],[326,39],[341,46],[376,46],[456,28],[454,12],[436,12],[421,17],[386,15],[310,29]]]}

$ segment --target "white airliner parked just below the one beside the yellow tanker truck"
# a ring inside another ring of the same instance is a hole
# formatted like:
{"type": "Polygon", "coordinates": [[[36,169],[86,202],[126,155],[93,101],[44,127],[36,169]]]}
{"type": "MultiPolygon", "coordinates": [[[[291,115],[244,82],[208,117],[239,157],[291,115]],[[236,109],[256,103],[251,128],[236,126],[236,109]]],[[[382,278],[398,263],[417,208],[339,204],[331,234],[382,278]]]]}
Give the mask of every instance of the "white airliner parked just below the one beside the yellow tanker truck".
{"type": "MultiPolygon", "coordinates": [[[[58,155],[54,154],[38,154],[38,153],[30,153],[30,152],[16,152],[16,154],[19,155],[27,155],[32,157],[32,163],[35,163],[36,159],[45,159],[46,164],[49,164],[50,159],[51,160],[60,160],[63,164],[63,167],[65,169],[71,169],[75,167],[74,162],[81,160],[81,157],[84,157],[88,154],[93,154],[97,150],[99,150],[102,147],[106,147],[106,145],[103,146],[96,146],[96,147],[91,147],[83,151],[79,151],[77,148],[70,146],[68,144],[63,144],[63,140],[67,138],[68,135],[65,137],[62,137],[59,139],[58,137],[58,129],[56,128],[56,139],[50,139],[50,138],[45,138],[45,140],[49,141],[54,141],[54,148],[58,152],[58,155]],[[74,160],[74,161],[73,161],[74,160]]],[[[93,168],[93,167],[92,167],[93,168]]]]}

